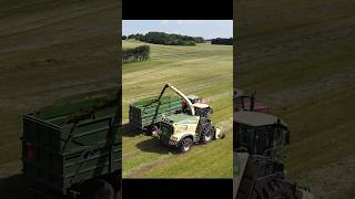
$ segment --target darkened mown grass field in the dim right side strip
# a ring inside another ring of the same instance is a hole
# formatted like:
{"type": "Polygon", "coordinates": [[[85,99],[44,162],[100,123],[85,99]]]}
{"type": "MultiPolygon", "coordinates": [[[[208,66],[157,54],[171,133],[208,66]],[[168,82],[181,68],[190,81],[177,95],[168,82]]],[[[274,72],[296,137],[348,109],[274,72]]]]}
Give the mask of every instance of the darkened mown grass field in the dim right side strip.
{"type": "Polygon", "coordinates": [[[355,195],[355,3],[245,1],[234,10],[235,86],[290,125],[287,175],[316,198],[355,195]]]}

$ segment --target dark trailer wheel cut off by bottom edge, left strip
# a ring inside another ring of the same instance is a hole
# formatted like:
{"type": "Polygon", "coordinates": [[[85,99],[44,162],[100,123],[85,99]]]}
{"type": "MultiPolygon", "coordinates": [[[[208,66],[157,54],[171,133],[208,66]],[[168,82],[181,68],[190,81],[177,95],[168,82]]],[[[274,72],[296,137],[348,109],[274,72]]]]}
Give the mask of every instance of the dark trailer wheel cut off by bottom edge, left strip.
{"type": "Polygon", "coordinates": [[[81,199],[114,199],[114,189],[105,180],[93,180],[84,185],[81,199]]]}

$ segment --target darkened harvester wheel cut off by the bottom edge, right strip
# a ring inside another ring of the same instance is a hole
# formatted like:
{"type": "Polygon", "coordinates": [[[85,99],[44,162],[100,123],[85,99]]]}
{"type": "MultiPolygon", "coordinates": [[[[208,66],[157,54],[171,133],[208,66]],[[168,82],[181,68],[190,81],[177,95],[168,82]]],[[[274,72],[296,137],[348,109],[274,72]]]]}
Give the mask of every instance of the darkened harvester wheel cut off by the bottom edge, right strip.
{"type": "Polygon", "coordinates": [[[260,198],[265,199],[295,199],[292,191],[285,186],[283,180],[271,180],[262,188],[260,198]]]}

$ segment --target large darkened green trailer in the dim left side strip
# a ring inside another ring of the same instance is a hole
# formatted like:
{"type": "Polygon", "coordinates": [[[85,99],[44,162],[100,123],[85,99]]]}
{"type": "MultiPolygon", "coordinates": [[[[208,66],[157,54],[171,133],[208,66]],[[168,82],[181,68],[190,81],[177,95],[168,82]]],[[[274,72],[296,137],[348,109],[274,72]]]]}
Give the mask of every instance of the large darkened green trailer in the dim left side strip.
{"type": "Polygon", "coordinates": [[[116,96],[91,97],[24,115],[22,170],[31,190],[50,198],[118,195],[122,148],[118,105],[116,96]]]}

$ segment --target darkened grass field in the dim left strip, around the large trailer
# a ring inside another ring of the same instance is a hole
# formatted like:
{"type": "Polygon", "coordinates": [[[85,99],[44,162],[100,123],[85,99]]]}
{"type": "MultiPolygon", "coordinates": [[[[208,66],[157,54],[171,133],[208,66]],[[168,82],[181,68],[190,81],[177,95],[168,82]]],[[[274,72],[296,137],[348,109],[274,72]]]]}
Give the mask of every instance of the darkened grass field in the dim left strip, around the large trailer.
{"type": "MultiPolygon", "coordinates": [[[[23,114],[118,85],[118,1],[0,2],[0,196],[21,198],[23,114]]],[[[24,189],[23,189],[24,190],[24,189]]]]}

